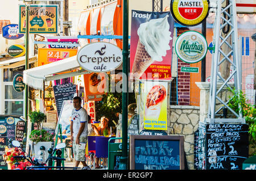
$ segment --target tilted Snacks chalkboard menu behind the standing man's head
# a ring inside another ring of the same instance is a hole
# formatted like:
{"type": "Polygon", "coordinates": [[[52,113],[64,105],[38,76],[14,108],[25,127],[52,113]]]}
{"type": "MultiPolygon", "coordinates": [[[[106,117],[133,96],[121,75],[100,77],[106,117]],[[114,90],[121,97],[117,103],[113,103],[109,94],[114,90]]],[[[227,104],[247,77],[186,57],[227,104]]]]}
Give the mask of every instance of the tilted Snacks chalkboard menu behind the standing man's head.
{"type": "Polygon", "coordinates": [[[53,92],[55,96],[55,103],[57,107],[57,114],[60,116],[61,107],[64,100],[72,100],[76,93],[76,85],[73,83],[65,83],[57,86],[53,86],[53,92]]]}

